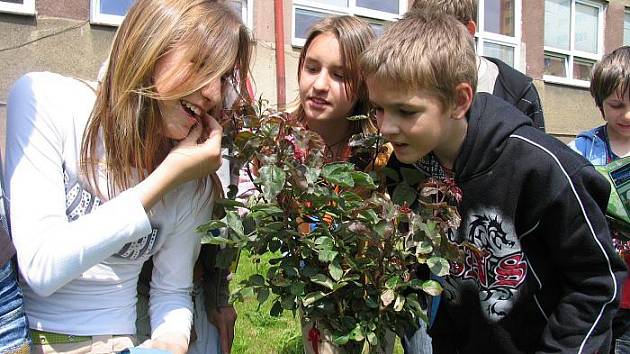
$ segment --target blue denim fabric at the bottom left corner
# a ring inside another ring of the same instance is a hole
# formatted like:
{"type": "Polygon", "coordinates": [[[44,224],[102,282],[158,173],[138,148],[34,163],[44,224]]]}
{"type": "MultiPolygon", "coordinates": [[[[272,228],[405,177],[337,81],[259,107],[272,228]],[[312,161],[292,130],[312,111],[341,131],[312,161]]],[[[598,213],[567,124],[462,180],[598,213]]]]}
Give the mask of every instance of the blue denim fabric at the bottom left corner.
{"type": "Polygon", "coordinates": [[[22,290],[11,261],[0,268],[0,353],[12,353],[30,343],[22,306],[22,290]]]}

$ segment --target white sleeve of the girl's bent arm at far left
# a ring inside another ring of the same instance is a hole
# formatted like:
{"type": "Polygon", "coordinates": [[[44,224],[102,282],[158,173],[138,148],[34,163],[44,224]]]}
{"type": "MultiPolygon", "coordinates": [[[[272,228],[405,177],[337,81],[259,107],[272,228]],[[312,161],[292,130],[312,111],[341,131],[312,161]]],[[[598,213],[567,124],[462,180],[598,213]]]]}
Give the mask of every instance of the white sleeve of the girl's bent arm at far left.
{"type": "Polygon", "coordinates": [[[75,114],[68,108],[73,102],[92,101],[78,86],[51,75],[23,76],[11,89],[7,108],[5,178],[11,231],[21,274],[40,296],[54,293],[125,243],[151,232],[132,189],[68,221],[63,165],[76,163],[78,154],[66,161],[64,140],[82,134],[83,128],[75,132],[63,127],[76,123],[66,116],[75,114]]]}

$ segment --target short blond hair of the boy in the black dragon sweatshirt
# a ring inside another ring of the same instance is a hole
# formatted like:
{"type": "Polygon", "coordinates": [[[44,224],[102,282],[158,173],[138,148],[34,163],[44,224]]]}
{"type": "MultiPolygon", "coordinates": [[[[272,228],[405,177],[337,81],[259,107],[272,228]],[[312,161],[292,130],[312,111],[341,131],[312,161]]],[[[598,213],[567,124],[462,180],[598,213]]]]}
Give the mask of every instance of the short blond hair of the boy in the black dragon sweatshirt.
{"type": "Polygon", "coordinates": [[[455,107],[457,85],[477,88],[473,38],[455,17],[412,10],[389,24],[361,57],[366,78],[425,90],[445,110],[455,107]]]}

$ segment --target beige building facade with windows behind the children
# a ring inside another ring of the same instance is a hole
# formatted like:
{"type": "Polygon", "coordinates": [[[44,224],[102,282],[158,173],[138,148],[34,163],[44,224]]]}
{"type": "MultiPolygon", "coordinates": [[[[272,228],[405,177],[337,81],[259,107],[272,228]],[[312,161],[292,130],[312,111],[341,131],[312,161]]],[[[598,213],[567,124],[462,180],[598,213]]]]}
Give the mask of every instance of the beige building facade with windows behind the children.
{"type": "MultiPolygon", "coordinates": [[[[297,97],[297,61],[313,22],[331,14],[350,14],[366,19],[378,33],[384,23],[400,18],[412,0],[224,1],[254,35],[256,96],[283,103],[297,97]]],[[[630,0],[478,1],[478,52],[498,57],[534,79],[547,132],[568,141],[601,124],[588,92],[588,75],[604,53],[630,44],[630,0]]],[[[132,3],[0,0],[2,146],[11,84],[29,71],[95,79],[132,3]]]]}

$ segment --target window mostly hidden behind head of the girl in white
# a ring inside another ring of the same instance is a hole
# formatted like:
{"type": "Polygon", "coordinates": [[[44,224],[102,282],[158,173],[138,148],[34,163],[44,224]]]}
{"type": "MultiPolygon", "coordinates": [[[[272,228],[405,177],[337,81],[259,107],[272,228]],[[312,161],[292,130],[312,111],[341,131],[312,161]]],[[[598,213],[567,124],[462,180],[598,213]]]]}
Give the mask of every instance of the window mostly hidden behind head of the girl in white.
{"type": "MultiPolygon", "coordinates": [[[[13,1],[13,0],[12,0],[13,1]]],[[[33,0],[34,1],[34,0],[33,0]]],[[[251,28],[251,6],[253,0],[227,0],[227,4],[243,19],[243,23],[251,28]]],[[[103,25],[119,26],[134,0],[91,0],[90,22],[103,25]]]]}

